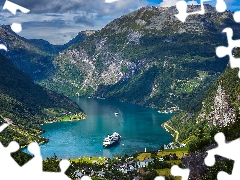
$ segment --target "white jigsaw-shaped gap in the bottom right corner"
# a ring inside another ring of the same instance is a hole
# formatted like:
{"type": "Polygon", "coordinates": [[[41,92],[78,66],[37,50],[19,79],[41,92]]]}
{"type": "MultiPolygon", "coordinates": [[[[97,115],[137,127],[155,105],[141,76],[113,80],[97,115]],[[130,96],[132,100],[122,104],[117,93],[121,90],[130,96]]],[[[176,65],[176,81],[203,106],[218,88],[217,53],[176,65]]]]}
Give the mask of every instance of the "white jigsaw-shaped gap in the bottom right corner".
{"type": "Polygon", "coordinates": [[[218,147],[207,151],[208,155],[204,159],[207,166],[213,166],[215,164],[215,155],[219,155],[231,160],[234,160],[234,166],[232,174],[229,175],[226,172],[220,171],[218,173],[218,180],[235,180],[239,179],[240,176],[240,139],[233,140],[226,143],[225,136],[223,133],[217,133],[214,136],[215,141],[218,143],[218,147]]]}

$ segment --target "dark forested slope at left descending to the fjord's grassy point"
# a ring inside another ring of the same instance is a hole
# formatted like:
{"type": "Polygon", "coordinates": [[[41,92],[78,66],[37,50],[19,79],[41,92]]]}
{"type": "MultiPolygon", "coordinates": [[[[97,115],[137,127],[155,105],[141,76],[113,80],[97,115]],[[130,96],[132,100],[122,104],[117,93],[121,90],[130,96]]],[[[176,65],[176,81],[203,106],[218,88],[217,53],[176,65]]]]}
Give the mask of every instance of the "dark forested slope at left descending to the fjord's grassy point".
{"type": "Polygon", "coordinates": [[[16,140],[21,146],[31,141],[44,143],[44,122],[56,121],[63,113],[86,115],[69,98],[36,85],[30,75],[16,68],[0,54],[0,123],[11,124],[0,134],[4,145],[16,140]]]}

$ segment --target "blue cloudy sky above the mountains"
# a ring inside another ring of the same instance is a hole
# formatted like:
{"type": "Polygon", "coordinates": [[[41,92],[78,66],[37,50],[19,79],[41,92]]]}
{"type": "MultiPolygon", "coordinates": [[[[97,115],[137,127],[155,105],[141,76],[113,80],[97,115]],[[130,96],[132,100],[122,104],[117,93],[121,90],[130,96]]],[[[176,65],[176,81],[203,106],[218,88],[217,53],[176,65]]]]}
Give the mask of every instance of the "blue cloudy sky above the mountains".
{"type": "MultiPolygon", "coordinates": [[[[10,0],[30,10],[13,15],[0,11],[0,24],[21,23],[19,33],[28,39],[45,39],[52,44],[65,44],[84,30],[100,30],[107,23],[144,6],[174,6],[178,0],[10,0]]],[[[209,1],[209,0],[204,0],[209,1]]],[[[240,0],[225,0],[231,11],[240,10],[240,0]]],[[[2,9],[5,1],[0,2],[2,9]]],[[[199,3],[199,2],[198,2],[199,3]]],[[[204,2],[215,6],[216,1],[204,2]]]]}

